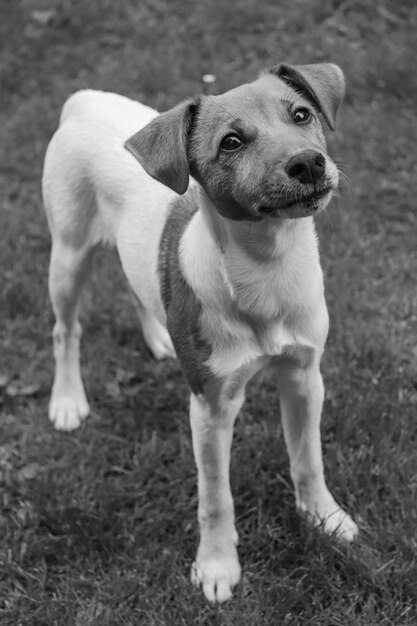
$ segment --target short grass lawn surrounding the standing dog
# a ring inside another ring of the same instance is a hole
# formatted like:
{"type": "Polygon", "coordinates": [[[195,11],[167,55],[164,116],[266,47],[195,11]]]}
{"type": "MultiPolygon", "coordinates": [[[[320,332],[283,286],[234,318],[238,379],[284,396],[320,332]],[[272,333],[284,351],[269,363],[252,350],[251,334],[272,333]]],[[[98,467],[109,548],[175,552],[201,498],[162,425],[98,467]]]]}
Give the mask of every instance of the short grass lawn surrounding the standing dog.
{"type": "Polygon", "coordinates": [[[1,626],[415,626],[415,2],[0,0],[0,11],[1,626]],[[92,415],[73,434],[48,422],[40,177],[79,88],[162,110],[206,72],[222,91],[281,60],[346,73],[329,145],[350,185],[318,220],[331,318],[322,431],[329,486],[361,534],[345,547],[297,517],[275,383],[257,379],[231,472],[243,580],[213,607],[189,583],[187,387],[144,348],[114,254],[98,254],[85,298],[92,415]]]}

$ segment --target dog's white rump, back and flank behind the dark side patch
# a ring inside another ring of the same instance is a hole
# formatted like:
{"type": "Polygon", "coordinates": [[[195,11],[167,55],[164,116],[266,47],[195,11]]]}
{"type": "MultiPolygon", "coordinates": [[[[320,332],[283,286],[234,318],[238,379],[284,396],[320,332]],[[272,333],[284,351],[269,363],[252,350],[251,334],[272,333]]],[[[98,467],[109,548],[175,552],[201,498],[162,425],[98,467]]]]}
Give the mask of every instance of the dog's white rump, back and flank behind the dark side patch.
{"type": "Polygon", "coordinates": [[[144,303],[159,316],[154,242],[176,194],[138,167],[124,148],[131,134],[157,115],[117,94],[75,93],[48,146],[42,190],[54,240],[76,250],[117,245],[129,280],[141,286],[144,303]]]}

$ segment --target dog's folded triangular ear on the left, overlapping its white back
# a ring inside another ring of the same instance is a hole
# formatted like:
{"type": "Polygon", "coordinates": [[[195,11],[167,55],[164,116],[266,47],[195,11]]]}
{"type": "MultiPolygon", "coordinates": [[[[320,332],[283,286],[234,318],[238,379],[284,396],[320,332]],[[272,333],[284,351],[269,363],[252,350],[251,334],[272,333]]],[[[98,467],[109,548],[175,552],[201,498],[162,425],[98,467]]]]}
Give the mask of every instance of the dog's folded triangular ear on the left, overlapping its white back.
{"type": "Polygon", "coordinates": [[[187,145],[199,99],[186,100],[161,113],[125,143],[150,176],[178,194],[187,191],[187,145]]]}

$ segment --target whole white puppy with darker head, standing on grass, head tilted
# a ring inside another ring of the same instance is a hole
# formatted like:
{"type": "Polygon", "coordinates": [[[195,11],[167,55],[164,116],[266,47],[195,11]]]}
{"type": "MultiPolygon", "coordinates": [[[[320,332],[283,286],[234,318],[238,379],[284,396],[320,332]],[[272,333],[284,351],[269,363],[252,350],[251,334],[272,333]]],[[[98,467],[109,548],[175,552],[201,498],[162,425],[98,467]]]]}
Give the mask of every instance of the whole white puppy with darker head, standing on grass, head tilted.
{"type": "Polygon", "coordinates": [[[331,63],[276,65],[161,114],[85,90],[65,103],[47,149],[49,417],[70,431],[88,415],[80,292],[94,248],[117,246],[147,345],[157,359],[178,358],[191,388],[200,527],[191,577],[212,602],[228,600],[240,579],[232,430],[246,383],[266,366],[297,508],[327,533],[357,533],[326,486],[320,441],[328,313],[314,215],[338,187],[320,120],[334,130],[343,96],[331,63]]]}

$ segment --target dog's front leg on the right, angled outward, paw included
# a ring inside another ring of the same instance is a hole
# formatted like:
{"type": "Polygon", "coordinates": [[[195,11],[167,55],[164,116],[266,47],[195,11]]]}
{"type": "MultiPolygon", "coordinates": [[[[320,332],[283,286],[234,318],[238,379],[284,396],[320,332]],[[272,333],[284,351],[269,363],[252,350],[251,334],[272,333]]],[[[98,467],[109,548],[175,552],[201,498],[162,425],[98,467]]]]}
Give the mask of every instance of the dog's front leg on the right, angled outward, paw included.
{"type": "Polygon", "coordinates": [[[357,526],[330,494],[324,479],[320,419],[324,386],[318,362],[280,367],[281,415],[297,508],[314,525],[347,541],[357,526]]]}

